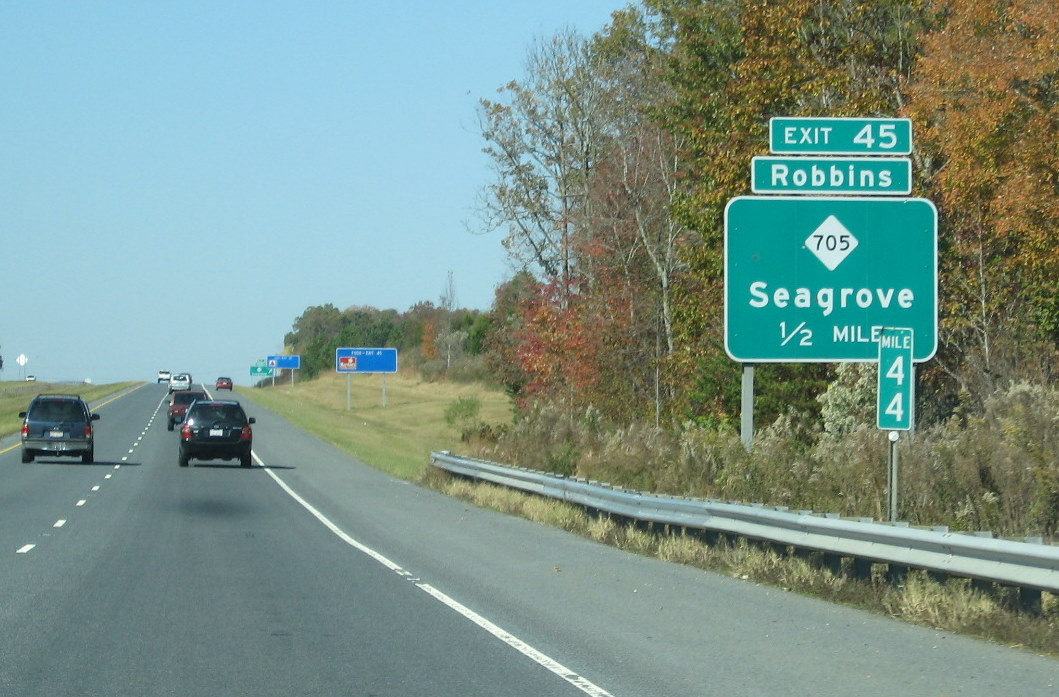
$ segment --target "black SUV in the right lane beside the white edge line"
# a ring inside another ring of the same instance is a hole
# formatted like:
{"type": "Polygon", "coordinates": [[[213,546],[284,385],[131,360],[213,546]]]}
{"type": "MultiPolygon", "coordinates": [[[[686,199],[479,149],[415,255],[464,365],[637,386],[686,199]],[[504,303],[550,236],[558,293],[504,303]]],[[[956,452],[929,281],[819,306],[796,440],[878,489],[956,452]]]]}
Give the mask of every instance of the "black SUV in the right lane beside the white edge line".
{"type": "Polygon", "coordinates": [[[250,449],[254,433],[238,401],[198,399],[187,408],[184,425],[180,428],[180,466],[186,467],[196,460],[234,460],[249,467],[250,449]]]}

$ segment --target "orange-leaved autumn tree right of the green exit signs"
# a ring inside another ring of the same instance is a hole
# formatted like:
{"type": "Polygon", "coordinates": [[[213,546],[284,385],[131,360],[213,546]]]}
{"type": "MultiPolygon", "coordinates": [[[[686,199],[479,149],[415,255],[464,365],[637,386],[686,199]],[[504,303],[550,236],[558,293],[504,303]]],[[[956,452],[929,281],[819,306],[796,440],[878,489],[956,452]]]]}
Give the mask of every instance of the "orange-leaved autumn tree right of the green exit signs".
{"type": "Polygon", "coordinates": [[[938,361],[981,400],[1059,339],[1059,3],[934,8],[909,113],[943,212],[938,361]]]}

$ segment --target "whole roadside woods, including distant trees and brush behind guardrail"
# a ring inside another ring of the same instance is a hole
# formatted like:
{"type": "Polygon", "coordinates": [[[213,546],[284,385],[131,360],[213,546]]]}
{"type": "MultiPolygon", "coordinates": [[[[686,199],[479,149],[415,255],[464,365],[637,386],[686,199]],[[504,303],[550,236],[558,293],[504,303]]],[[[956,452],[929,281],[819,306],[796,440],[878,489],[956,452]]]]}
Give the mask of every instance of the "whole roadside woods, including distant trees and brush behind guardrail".
{"type": "Polygon", "coordinates": [[[482,452],[501,461],[869,515],[873,364],[758,365],[760,445],[729,437],[723,211],[772,117],[912,122],[939,321],[911,518],[1059,531],[1057,0],[642,0],[539,38],[480,103],[481,228],[518,269],[492,306],[455,308],[450,279],[408,312],[310,307],[285,343],[305,377],[337,346],[389,345],[428,377],[496,380],[521,408],[482,452]]]}

